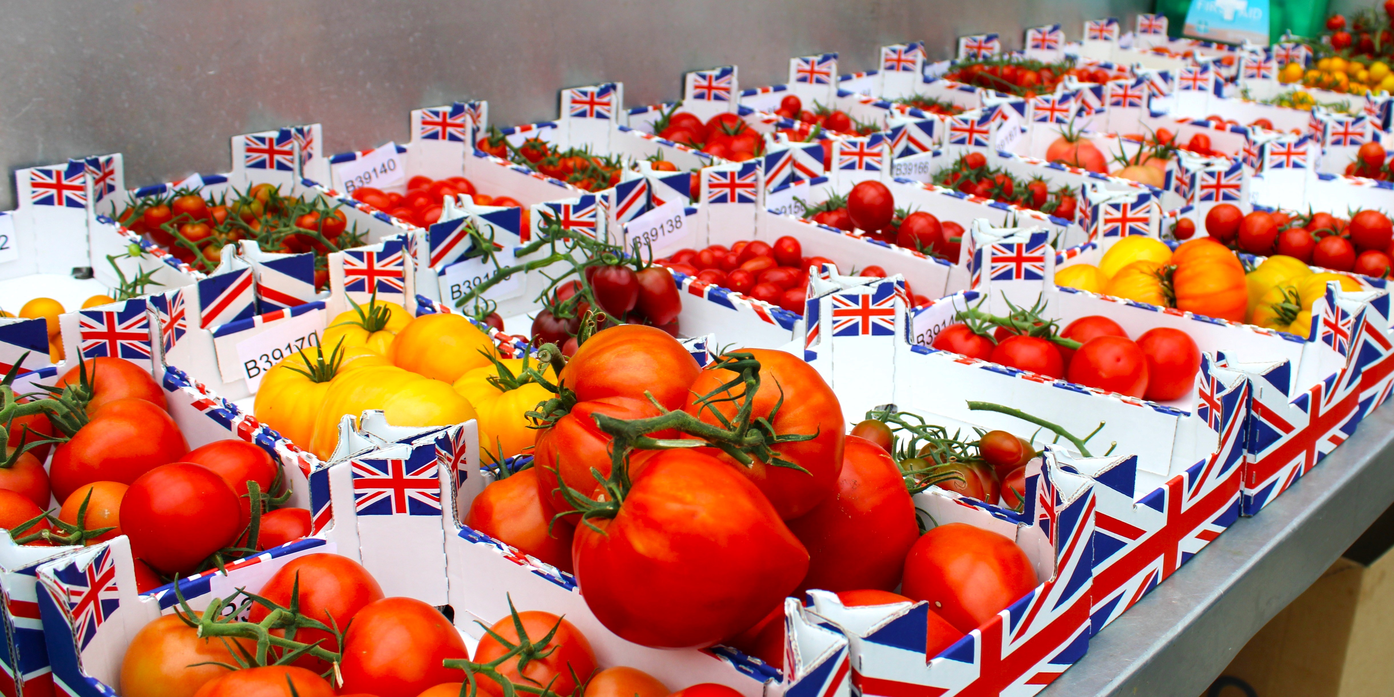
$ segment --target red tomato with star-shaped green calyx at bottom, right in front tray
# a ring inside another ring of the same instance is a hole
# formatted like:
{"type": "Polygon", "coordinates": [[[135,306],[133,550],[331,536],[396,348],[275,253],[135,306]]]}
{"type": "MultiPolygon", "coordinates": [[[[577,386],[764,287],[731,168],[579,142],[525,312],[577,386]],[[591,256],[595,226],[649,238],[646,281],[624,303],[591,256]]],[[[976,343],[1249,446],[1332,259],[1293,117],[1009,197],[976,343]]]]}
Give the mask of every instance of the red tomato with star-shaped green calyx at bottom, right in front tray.
{"type": "MultiPolygon", "coordinates": [[[[513,684],[544,689],[549,687],[556,694],[572,694],[577,686],[585,684],[595,672],[595,652],[585,634],[576,629],[576,625],[552,615],[551,612],[524,611],[519,612],[517,623],[523,625],[523,634],[530,641],[546,637],[549,631],[552,641],[548,643],[545,655],[528,661],[523,671],[519,671],[519,658],[512,657],[496,668],[499,675],[513,682],[513,684]]],[[[509,644],[519,643],[519,630],[512,616],[503,618],[489,627],[489,631],[503,637],[509,644]]],[[[491,634],[480,640],[474,650],[474,662],[488,664],[503,657],[509,650],[491,634]]],[[[492,677],[481,676],[480,691],[495,697],[503,696],[503,687],[492,677]]]]}

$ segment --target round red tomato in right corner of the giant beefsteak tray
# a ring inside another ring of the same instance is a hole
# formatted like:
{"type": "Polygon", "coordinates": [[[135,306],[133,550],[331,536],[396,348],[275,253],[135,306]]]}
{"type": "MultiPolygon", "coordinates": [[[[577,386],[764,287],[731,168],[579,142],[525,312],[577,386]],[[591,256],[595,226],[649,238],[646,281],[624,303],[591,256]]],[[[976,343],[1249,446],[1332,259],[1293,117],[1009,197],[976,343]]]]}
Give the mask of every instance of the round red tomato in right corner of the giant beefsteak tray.
{"type": "Polygon", "coordinates": [[[1016,542],[966,523],[920,535],[905,559],[901,592],[928,601],[959,631],[972,631],[1036,587],[1016,542]]]}

